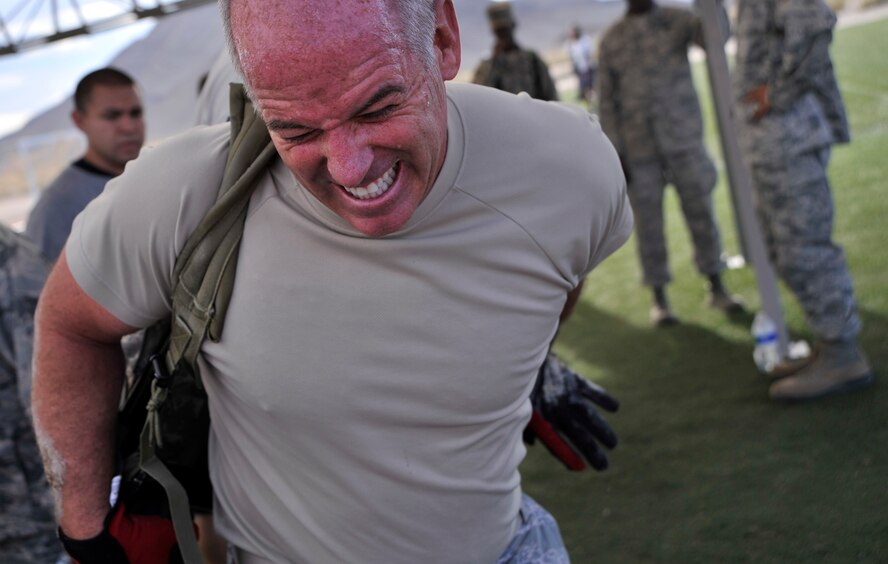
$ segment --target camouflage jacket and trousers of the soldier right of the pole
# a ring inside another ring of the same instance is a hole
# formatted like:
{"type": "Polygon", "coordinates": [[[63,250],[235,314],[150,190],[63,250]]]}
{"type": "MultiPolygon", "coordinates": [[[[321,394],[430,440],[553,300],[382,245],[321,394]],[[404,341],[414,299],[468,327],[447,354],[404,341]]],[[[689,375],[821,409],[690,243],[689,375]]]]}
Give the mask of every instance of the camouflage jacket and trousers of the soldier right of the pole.
{"type": "Polygon", "coordinates": [[[860,331],[851,276],[832,242],[830,148],[850,140],[829,57],[836,17],[823,0],[741,0],[737,13],[740,144],[771,259],[815,335],[860,331]],[[758,122],[741,102],[767,85],[771,110],[758,122]]]}

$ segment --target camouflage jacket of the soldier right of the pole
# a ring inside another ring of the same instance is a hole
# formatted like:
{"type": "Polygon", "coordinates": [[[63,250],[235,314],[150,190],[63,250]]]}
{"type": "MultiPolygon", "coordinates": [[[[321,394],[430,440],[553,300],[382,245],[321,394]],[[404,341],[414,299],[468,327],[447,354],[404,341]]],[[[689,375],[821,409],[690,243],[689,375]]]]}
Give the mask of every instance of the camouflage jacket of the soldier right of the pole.
{"type": "Polygon", "coordinates": [[[799,116],[803,122],[825,120],[828,142],[850,140],[829,56],[835,24],[824,0],[740,0],[734,93],[741,121],[748,121],[750,113],[743,96],[766,85],[772,113],[804,113],[799,116]],[[805,109],[814,102],[819,108],[805,109]]]}

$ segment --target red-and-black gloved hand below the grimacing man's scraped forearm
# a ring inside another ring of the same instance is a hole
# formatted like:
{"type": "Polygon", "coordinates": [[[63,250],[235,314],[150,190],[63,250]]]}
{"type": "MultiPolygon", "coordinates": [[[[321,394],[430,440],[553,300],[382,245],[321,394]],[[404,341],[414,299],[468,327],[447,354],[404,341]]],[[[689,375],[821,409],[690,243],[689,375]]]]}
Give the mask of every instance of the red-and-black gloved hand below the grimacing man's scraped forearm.
{"type": "Polygon", "coordinates": [[[98,535],[74,540],[59,529],[65,551],[79,564],[167,564],[181,561],[169,519],[128,515],[123,503],[111,510],[98,535]],[[175,555],[175,556],[174,556],[175,555]]]}

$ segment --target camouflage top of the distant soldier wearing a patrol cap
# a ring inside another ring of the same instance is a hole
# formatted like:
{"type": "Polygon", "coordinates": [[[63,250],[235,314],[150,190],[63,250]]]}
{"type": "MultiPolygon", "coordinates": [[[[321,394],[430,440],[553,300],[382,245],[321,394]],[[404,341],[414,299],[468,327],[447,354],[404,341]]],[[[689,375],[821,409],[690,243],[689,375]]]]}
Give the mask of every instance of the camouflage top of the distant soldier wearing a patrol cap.
{"type": "Polygon", "coordinates": [[[506,51],[484,59],[472,78],[475,84],[517,94],[527,92],[540,100],[557,100],[558,90],[546,63],[526,49],[506,51]]]}

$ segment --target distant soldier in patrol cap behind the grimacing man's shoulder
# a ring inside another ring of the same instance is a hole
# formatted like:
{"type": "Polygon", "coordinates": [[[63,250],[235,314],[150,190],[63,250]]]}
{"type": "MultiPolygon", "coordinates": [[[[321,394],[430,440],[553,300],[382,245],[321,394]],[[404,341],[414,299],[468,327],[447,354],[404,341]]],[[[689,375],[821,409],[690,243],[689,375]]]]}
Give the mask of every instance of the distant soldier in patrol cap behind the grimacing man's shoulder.
{"type": "Polygon", "coordinates": [[[515,41],[515,18],[508,2],[487,6],[490,30],[496,37],[493,55],[481,61],[472,82],[513,94],[527,92],[540,100],[557,100],[558,90],[549,68],[536,52],[522,49],[515,41]]]}

